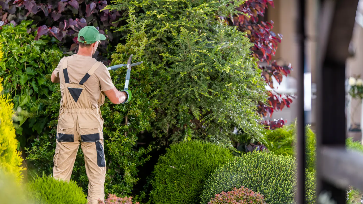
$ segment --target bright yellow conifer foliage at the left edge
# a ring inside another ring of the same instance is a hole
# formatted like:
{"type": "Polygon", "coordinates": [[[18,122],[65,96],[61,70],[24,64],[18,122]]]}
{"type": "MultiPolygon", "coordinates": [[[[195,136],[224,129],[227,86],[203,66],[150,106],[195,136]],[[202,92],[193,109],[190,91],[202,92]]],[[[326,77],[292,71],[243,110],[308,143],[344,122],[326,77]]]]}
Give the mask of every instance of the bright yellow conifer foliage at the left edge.
{"type": "MultiPolygon", "coordinates": [[[[3,91],[3,86],[0,78],[0,93],[3,91]]],[[[21,152],[17,151],[18,140],[16,140],[15,128],[13,125],[13,103],[8,94],[0,95],[0,169],[8,174],[14,174],[18,181],[23,178],[20,167],[22,158],[21,152]]]]}

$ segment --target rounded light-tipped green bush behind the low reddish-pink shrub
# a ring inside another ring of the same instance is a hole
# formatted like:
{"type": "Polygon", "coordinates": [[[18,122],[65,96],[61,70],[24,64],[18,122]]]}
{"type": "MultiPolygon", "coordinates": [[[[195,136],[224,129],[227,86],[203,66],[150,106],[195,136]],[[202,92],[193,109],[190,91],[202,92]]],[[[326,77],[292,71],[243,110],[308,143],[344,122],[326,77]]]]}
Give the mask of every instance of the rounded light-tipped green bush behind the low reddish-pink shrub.
{"type": "MultiPolygon", "coordinates": [[[[293,203],[296,185],[295,159],[266,151],[254,151],[227,162],[213,172],[204,185],[201,203],[220,192],[244,186],[265,196],[266,203],[293,203]]],[[[306,173],[306,203],[315,203],[313,173],[306,173]]]]}

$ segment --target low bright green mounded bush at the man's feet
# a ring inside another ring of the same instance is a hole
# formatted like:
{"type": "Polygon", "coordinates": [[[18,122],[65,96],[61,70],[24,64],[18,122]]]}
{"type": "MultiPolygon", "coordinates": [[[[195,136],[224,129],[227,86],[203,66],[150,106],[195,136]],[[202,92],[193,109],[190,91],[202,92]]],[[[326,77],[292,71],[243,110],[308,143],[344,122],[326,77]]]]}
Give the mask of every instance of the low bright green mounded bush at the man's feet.
{"type": "Polygon", "coordinates": [[[86,204],[86,195],[75,181],[56,180],[51,176],[35,177],[29,181],[30,199],[42,204],[86,204]]]}

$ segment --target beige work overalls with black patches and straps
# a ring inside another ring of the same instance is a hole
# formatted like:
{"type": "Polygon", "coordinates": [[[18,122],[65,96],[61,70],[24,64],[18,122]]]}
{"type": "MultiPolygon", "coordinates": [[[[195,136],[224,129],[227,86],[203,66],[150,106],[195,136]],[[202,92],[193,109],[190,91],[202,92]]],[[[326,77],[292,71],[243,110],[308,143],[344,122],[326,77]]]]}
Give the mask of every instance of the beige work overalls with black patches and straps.
{"type": "MultiPolygon", "coordinates": [[[[60,72],[60,83],[65,83],[63,104],[60,107],[57,126],[57,147],[54,154],[53,177],[70,180],[74,161],[79,145],[81,145],[86,173],[88,177],[88,197],[91,204],[98,203],[98,199],[105,199],[106,161],[103,150],[103,119],[101,110],[91,105],[83,83],[101,65],[96,62],[82,78],[79,84],[69,83],[67,70],[68,57],[60,72]]],[[[103,104],[105,95],[102,93],[98,101],[103,104]]]]}

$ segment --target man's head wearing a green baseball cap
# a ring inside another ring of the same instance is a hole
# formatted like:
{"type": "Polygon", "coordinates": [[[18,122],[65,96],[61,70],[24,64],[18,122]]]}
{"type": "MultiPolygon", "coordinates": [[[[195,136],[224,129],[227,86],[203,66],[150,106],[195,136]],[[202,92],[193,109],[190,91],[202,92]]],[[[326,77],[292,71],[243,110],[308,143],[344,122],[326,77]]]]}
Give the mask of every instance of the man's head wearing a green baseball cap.
{"type": "Polygon", "coordinates": [[[86,26],[79,30],[78,43],[80,51],[94,54],[101,40],[106,40],[106,36],[99,33],[94,26],[86,26]]]}

